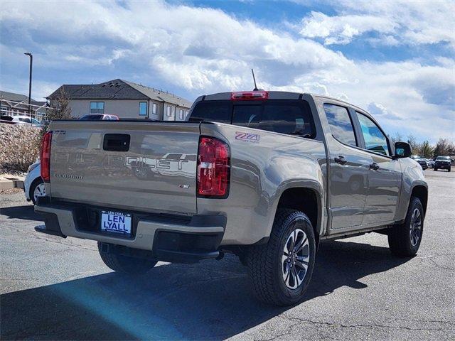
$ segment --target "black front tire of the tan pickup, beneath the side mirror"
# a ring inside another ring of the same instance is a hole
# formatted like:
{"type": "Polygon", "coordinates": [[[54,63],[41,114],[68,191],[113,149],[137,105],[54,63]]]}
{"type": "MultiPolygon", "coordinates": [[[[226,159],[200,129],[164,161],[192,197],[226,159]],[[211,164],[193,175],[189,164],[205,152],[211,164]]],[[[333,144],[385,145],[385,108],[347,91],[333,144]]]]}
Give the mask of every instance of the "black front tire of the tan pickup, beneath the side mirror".
{"type": "Polygon", "coordinates": [[[392,227],[388,233],[389,247],[392,254],[400,257],[412,257],[417,254],[424,232],[424,209],[418,197],[411,197],[407,209],[406,219],[403,224],[392,227]],[[419,210],[420,229],[417,243],[412,237],[412,219],[414,210],[419,210]]]}

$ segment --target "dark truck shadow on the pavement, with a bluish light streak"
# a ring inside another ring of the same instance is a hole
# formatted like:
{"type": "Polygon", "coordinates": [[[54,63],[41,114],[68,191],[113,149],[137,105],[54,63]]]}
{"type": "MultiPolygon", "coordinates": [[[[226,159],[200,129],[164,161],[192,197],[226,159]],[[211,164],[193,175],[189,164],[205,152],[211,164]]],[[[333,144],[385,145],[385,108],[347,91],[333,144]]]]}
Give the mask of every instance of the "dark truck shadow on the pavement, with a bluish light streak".
{"type": "MultiPolygon", "coordinates": [[[[400,266],[385,247],[321,244],[304,303],[400,266]]],[[[220,339],[254,328],[292,308],[250,295],[235,256],[193,265],[163,264],[129,278],[100,274],[0,296],[1,340],[220,339]]]]}

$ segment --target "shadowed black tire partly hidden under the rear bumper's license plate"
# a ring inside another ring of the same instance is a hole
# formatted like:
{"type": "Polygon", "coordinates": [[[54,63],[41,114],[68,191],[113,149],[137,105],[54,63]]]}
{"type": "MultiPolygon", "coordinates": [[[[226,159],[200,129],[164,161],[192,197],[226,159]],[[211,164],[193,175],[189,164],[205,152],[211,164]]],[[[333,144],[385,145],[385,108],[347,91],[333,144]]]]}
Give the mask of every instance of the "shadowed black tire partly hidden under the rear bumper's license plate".
{"type": "Polygon", "coordinates": [[[104,252],[101,250],[102,243],[98,242],[98,251],[102,261],[110,269],[122,274],[141,275],[152,269],[157,261],[154,259],[142,259],[124,256],[122,254],[114,254],[112,252],[104,252]]]}

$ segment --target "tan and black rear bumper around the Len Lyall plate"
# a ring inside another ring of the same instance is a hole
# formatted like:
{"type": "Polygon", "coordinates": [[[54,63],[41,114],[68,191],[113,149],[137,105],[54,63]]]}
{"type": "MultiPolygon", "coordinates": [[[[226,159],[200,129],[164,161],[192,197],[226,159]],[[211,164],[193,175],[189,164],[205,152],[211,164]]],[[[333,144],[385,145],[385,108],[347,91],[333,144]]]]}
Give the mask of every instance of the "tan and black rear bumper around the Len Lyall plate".
{"type": "Polygon", "coordinates": [[[164,215],[137,215],[133,219],[132,237],[117,236],[89,230],[81,212],[81,205],[42,204],[35,212],[42,215],[45,227],[36,231],[59,237],[96,240],[105,244],[121,245],[130,249],[151,251],[161,261],[192,262],[219,256],[226,218],[221,215],[195,215],[188,220],[164,215]]]}

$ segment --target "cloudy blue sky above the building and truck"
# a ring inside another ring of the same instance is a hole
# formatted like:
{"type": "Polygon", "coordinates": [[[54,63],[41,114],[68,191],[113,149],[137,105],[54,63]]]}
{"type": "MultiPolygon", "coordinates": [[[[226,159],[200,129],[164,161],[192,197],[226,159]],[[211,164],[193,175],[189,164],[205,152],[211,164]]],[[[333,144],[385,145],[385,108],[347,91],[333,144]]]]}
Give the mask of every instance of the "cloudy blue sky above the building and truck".
{"type": "Polygon", "coordinates": [[[390,134],[455,139],[454,1],[3,1],[0,90],[123,78],[190,100],[252,87],[367,109],[390,134]]]}

